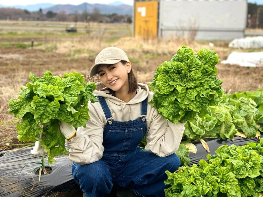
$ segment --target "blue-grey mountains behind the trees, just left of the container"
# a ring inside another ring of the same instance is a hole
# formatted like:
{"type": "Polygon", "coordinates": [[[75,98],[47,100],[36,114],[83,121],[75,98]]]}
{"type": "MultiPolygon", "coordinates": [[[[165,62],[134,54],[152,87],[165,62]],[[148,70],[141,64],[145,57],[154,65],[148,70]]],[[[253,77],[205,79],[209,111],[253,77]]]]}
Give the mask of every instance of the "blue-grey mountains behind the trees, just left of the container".
{"type": "Polygon", "coordinates": [[[66,4],[66,5],[57,4],[52,7],[42,9],[42,11],[43,13],[47,13],[48,11],[57,12],[57,13],[64,11],[66,14],[73,14],[76,12],[82,13],[86,10],[88,13],[92,13],[94,8],[98,8],[101,14],[112,14],[112,13],[128,14],[128,15],[132,14],[132,6],[123,3],[120,5],[82,3],[76,6],[71,4],[66,4]]]}

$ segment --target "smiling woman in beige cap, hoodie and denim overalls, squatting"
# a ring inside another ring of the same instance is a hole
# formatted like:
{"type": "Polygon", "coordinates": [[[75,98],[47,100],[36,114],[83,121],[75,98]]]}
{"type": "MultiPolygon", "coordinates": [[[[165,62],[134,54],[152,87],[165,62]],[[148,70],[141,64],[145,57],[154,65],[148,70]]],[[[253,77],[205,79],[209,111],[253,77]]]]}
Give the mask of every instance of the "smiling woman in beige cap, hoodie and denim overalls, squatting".
{"type": "Polygon", "coordinates": [[[129,187],[139,196],[164,196],[166,170],[174,172],[180,160],[174,153],[184,124],[164,120],[148,105],[153,96],[148,86],[137,83],[123,50],[103,49],[95,59],[90,76],[98,74],[99,102],[89,103],[86,128],[62,122],[68,139],[72,174],[85,196],[109,194],[113,184],[129,187]],[[146,151],[137,147],[146,137],[146,151]]]}

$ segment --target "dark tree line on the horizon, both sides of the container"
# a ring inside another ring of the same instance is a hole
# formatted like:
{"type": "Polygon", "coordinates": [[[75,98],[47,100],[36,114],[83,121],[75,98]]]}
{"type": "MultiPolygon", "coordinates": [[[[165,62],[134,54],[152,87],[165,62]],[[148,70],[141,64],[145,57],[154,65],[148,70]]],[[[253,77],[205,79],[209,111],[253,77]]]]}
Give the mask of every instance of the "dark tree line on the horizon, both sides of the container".
{"type": "MultiPolygon", "coordinates": [[[[43,13],[40,8],[36,12],[15,8],[0,8],[0,20],[39,20],[39,21],[68,21],[68,22],[103,22],[131,23],[131,15],[102,14],[98,8],[94,8],[92,13],[77,11],[74,14],[48,11],[43,13]]],[[[263,28],[263,5],[248,3],[247,28],[263,28]]]]}

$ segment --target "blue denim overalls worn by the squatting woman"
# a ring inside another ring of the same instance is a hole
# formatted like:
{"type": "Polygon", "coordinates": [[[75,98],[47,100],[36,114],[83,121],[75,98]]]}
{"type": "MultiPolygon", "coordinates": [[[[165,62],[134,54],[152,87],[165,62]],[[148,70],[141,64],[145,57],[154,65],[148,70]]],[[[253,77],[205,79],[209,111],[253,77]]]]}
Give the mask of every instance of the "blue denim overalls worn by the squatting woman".
{"type": "Polygon", "coordinates": [[[103,131],[103,156],[97,162],[80,165],[73,162],[72,175],[85,197],[109,194],[113,183],[129,187],[139,196],[164,196],[166,170],[176,171],[180,160],[176,154],[159,157],[137,146],[146,133],[147,98],[141,102],[141,117],[115,121],[104,97],[97,97],[107,123],[103,131]]]}

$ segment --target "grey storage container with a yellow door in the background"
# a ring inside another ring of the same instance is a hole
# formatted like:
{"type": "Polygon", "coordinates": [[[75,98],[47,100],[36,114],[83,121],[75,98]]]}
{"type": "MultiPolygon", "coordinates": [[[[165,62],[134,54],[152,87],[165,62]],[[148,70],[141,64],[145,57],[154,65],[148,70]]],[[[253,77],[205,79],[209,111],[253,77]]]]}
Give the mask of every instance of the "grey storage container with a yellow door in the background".
{"type": "Polygon", "coordinates": [[[144,38],[231,40],[244,37],[246,20],[246,0],[135,0],[133,30],[144,38]]]}

